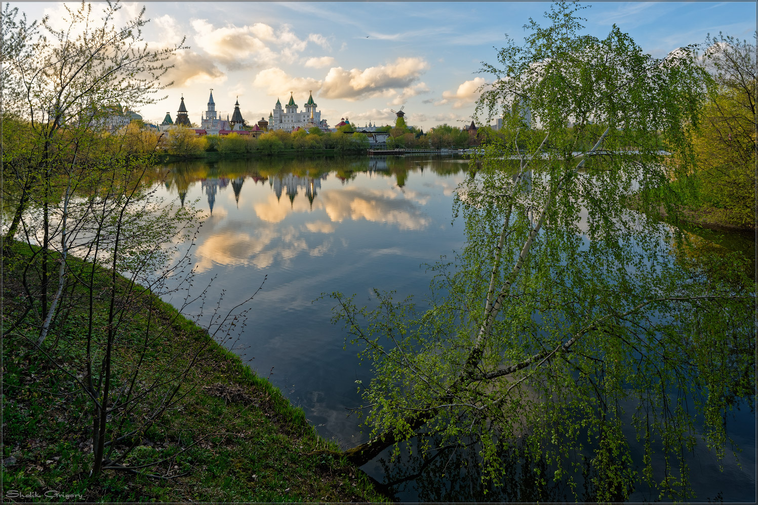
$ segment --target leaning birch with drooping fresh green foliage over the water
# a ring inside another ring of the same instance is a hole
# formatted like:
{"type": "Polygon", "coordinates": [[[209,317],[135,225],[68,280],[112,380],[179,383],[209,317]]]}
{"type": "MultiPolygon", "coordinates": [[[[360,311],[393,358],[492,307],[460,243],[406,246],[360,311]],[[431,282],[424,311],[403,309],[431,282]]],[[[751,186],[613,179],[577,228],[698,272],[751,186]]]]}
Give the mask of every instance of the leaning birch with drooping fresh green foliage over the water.
{"type": "Polygon", "coordinates": [[[675,219],[686,195],[669,185],[694,170],[706,77],[693,48],[653,58],[617,26],[582,34],[577,11],[553,6],[484,64],[478,114],[504,117],[504,131],[459,186],[465,248],[434,267],[428,300],[376,292],[361,309],[333,294],[375,374],[356,463],[412,438],[434,449],[434,436],[474,440],[490,485],[514,447],[552,469],[544,485],[575,484],[583,450],[600,501],[641,480],[686,499],[681,454],[698,434],[719,457],[730,447],[725,415],[754,388],[753,283],[740,258],[722,264],[729,283],[681,263],[671,248],[684,237],[655,219],[675,219]]]}

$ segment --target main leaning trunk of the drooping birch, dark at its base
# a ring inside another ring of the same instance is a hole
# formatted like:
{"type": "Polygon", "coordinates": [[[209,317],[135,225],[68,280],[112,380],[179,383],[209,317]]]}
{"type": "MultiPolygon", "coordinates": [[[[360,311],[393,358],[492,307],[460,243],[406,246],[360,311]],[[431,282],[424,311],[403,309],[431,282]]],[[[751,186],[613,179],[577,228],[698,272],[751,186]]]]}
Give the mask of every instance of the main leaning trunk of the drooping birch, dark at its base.
{"type": "MultiPolygon", "coordinates": [[[[596,142],[594,147],[590,149],[590,151],[587,151],[585,154],[593,153],[594,151],[597,151],[597,148],[600,147],[600,144],[602,144],[603,140],[606,138],[606,135],[608,135],[608,132],[610,131],[611,126],[608,126],[606,128],[606,131],[603,132],[603,135],[600,136],[600,139],[596,142]]],[[[547,140],[547,136],[545,137],[545,140],[547,140]]],[[[543,140],[542,144],[540,144],[540,148],[544,144],[545,140],[543,140]]],[[[526,257],[529,255],[529,251],[531,250],[531,245],[534,243],[534,237],[537,236],[537,233],[540,232],[540,229],[545,221],[545,217],[547,217],[547,212],[550,210],[550,208],[553,206],[553,201],[557,198],[560,190],[563,188],[563,185],[565,185],[565,182],[568,180],[570,176],[577,173],[577,171],[584,167],[584,161],[587,160],[587,157],[585,156],[582,161],[580,161],[577,166],[570,172],[567,173],[565,176],[563,176],[561,179],[559,179],[558,184],[556,185],[556,188],[553,190],[553,192],[550,193],[549,198],[545,202],[545,206],[542,210],[542,213],[540,214],[539,219],[537,220],[537,224],[534,226],[534,229],[531,230],[529,233],[529,237],[527,238],[524,246],[522,247],[521,254],[518,255],[518,260],[516,261],[516,264],[513,266],[510,275],[506,279],[506,282],[503,283],[503,286],[498,291],[497,298],[495,299],[494,303],[491,305],[489,310],[486,313],[484,323],[480,326],[479,334],[477,336],[477,340],[475,342],[474,348],[471,349],[471,352],[468,354],[468,358],[465,361],[464,369],[461,373],[461,375],[458,376],[458,379],[456,379],[455,382],[453,382],[453,385],[450,386],[448,389],[448,394],[445,397],[442,397],[441,400],[449,401],[453,398],[454,394],[456,393],[456,390],[461,388],[464,385],[465,380],[471,376],[471,373],[476,369],[476,366],[478,366],[479,362],[481,361],[481,356],[484,353],[484,345],[487,343],[487,338],[490,335],[490,330],[492,329],[492,324],[494,323],[494,320],[498,313],[500,313],[500,308],[503,307],[503,300],[506,298],[507,292],[510,289],[510,286],[515,282],[516,276],[518,276],[518,273],[522,269],[522,265],[524,264],[524,261],[526,260],[526,257]]],[[[523,172],[523,169],[521,170],[523,172]]],[[[521,173],[519,173],[519,176],[521,173]]],[[[515,195],[515,187],[514,187],[514,193],[515,195]]],[[[508,227],[508,221],[506,220],[503,223],[503,229],[506,230],[508,227]]],[[[501,237],[504,237],[505,231],[501,233],[501,237]]],[[[500,245],[500,242],[498,242],[498,245],[500,245]]],[[[502,246],[501,246],[502,248],[502,246]]],[[[497,255],[501,254],[500,249],[496,252],[497,255]]],[[[499,259],[496,259],[496,263],[499,261],[499,259]]],[[[494,291],[493,291],[494,292],[494,291]]],[[[490,304],[490,296],[487,297],[487,304],[490,304]]],[[[515,369],[520,369],[521,367],[516,367],[515,369]]],[[[514,371],[515,371],[514,369],[514,371]]],[[[422,410],[421,412],[415,413],[412,416],[408,416],[406,419],[404,419],[406,425],[408,426],[408,429],[415,431],[418,428],[421,428],[421,426],[424,426],[424,424],[429,420],[432,419],[435,415],[437,415],[438,412],[437,407],[429,407],[428,410],[422,410]]],[[[360,444],[356,447],[353,447],[352,449],[345,451],[345,456],[347,459],[356,465],[363,465],[365,463],[368,463],[371,461],[374,457],[376,457],[379,453],[381,453],[382,450],[386,449],[387,447],[390,447],[393,444],[396,444],[399,441],[406,440],[407,438],[408,430],[399,431],[397,429],[390,430],[389,432],[384,432],[381,435],[377,435],[374,438],[371,438],[371,440],[364,442],[363,444],[360,444]]]]}

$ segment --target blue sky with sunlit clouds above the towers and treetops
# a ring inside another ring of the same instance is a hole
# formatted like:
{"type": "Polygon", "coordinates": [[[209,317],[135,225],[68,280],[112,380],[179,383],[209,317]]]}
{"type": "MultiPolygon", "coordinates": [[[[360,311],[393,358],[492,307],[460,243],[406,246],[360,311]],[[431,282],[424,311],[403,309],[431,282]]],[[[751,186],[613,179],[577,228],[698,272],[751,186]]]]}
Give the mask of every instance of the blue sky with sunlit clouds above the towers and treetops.
{"type": "MultiPolygon", "coordinates": [[[[77,8],[78,4],[69,4],[77,8]]],[[[180,97],[200,122],[210,89],[216,111],[234,103],[250,123],[268,119],[277,98],[293,92],[304,111],[309,91],[330,126],[343,117],[357,126],[406,122],[424,130],[463,126],[474,114],[478,88],[491,81],[482,62],[496,64],[506,34],[522,42],[529,18],[545,2],[135,2],[121,20],[146,7],[146,42],[173,45],[186,37],[157,104],[137,108],[145,120],[175,118],[180,97]]],[[[615,23],[656,58],[708,33],[750,39],[755,2],[587,2],[585,33],[604,38],[615,23]]],[[[93,3],[93,11],[102,4],[93,3]]],[[[62,26],[62,2],[11,2],[30,19],[49,14],[62,26]]]]}

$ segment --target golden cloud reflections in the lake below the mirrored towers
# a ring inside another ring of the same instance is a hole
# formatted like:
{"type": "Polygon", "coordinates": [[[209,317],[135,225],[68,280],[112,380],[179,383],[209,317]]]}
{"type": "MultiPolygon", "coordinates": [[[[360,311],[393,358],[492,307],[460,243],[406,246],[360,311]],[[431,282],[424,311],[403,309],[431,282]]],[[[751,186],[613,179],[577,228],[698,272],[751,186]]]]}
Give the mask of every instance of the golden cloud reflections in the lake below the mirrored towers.
{"type": "MultiPolygon", "coordinates": [[[[272,177],[270,189],[266,185],[262,188],[252,185],[246,195],[246,199],[252,197],[252,204],[247,208],[252,207],[257,219],[250,216],[246,206],[240,205],[239,210],[224,208],[236,202],[234,198],[215,200],[213,218],[206,221],[196,248],[196,271],[205,272],[214,265],[252,265],[264,269],[274,262],[286,267],[299,254],[322,256],[334,247],[334,236],[324,238],[324,235],[337,232],[339,225],[335,223],[349,220],[386,223],[411,231],[424,229],[431,223],[421,209],[430,198],[426,192],[412,189],[401,192],[392,187],[391,178],[372,179],[371,185],[384,188],[354,184],[322,190],[321,181],[326,179],[288,174],[272,177]],[[235,215],[232,210],[245,215],[235,215]],[[285,220],[299,223],[285,224],[285,220]]],[[[208,193],[209,185],[215,185],[214,181],[206,179],[203,192],[208,193]]],[[[218,184],[213,189],[217,187],[221,193],[226,185],[218,184]]],[[[344,240],[337,242],[340,243],[346,245],[344,240]]]]}

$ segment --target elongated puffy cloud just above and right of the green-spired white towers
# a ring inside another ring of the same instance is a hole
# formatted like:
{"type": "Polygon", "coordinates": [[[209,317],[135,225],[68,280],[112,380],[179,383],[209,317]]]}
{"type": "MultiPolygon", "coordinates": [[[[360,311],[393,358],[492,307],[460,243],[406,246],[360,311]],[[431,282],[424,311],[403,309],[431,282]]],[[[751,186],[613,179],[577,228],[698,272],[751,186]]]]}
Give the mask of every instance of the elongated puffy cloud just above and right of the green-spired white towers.
{"type": "Polygon", "coordinates": [[[423,58],[397,58],[396,61],[365,70],[332,67],[321,89],[325,98],[360,98],[392,94],[390,90],[411,86],[429,67],[423,58]],[[390,92],[390,93],[387,93],[390,92]]]}

